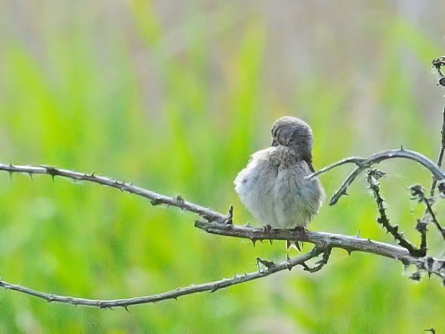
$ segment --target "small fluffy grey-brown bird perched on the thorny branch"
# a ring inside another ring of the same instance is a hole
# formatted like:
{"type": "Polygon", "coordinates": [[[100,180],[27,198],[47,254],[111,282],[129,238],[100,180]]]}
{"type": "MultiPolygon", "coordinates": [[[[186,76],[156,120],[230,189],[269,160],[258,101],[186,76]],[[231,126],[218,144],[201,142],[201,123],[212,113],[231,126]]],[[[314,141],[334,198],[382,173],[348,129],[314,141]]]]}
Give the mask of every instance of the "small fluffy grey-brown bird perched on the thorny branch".
{"type": "MultiPolygon", "coordinates": [[[[272,146],[252,154],[234,181],[241,202],[267,228],[304,228],[318,214],[325,192],[312,167],[312,129],[284,116],[272,127],[272,146]]],[[[286,241],[286,248],[298,243],[286,241]]]]}

